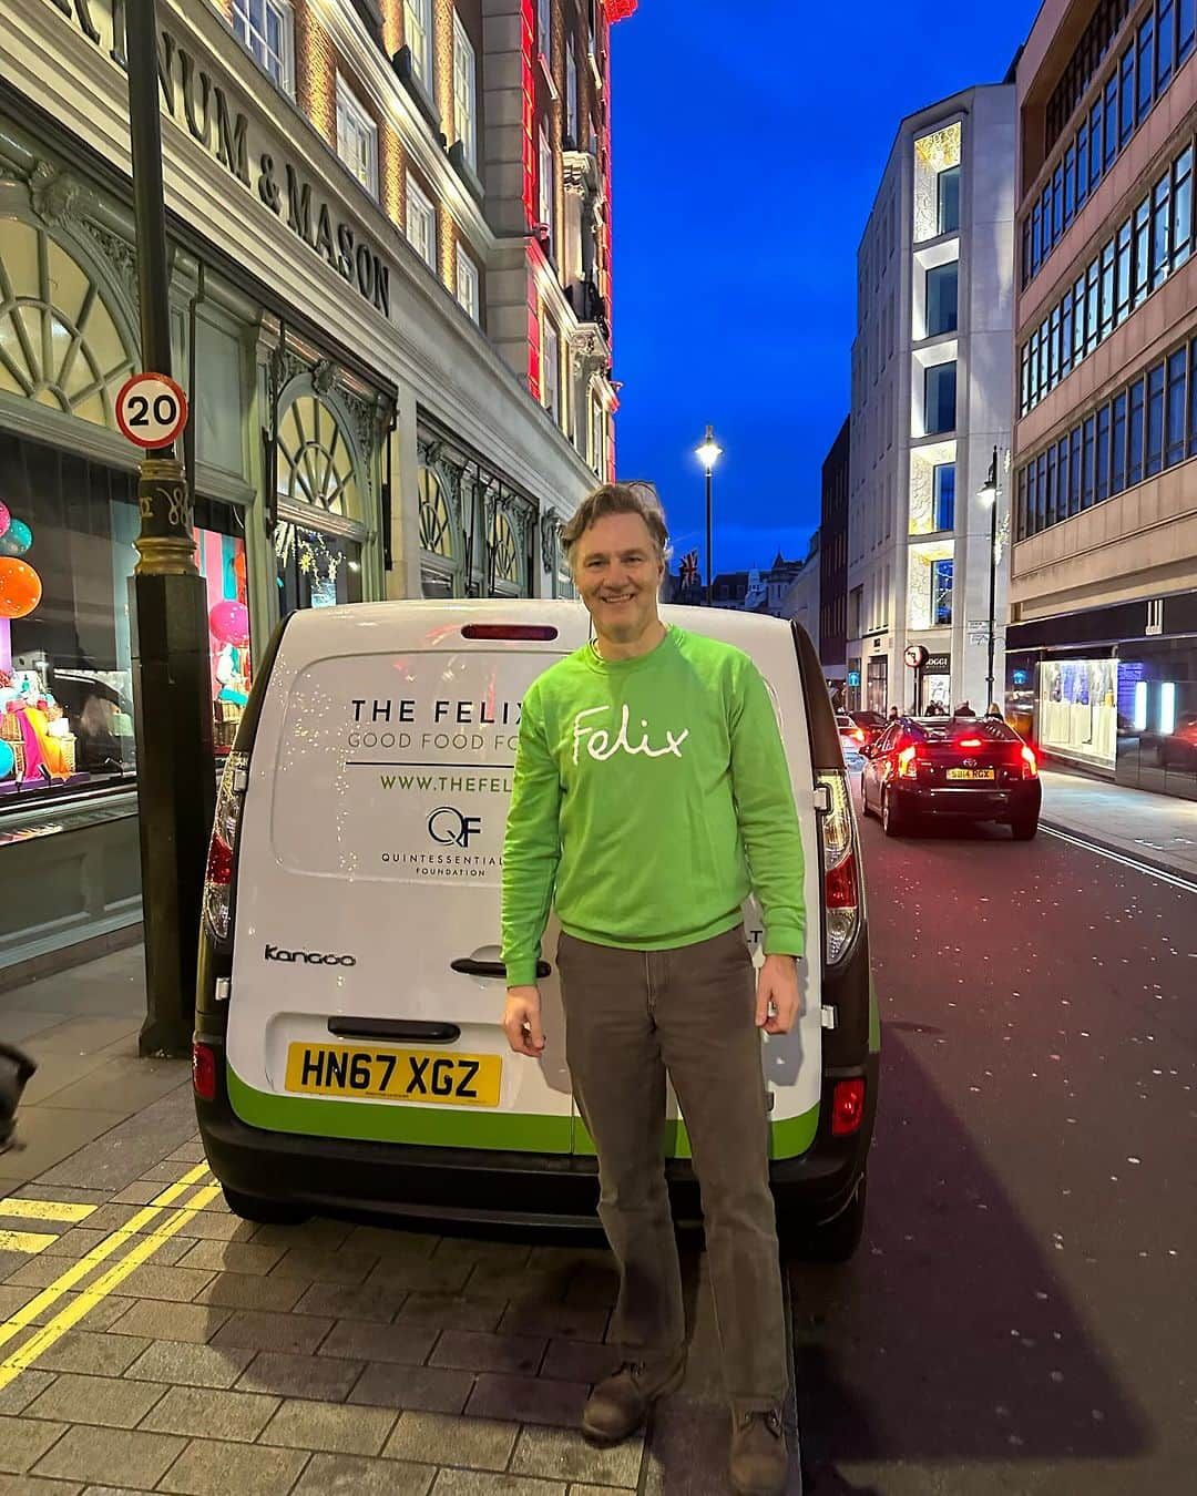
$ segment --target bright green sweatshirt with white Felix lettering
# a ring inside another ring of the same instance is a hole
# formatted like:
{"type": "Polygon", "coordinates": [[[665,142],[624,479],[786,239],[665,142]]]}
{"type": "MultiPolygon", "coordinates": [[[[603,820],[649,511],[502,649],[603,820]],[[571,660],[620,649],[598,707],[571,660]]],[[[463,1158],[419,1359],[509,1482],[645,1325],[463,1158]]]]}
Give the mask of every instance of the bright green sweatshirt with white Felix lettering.
{"type": "Polygon", "coordinates": [[[670,628],[634,660],[588,643],[531,684],[503,844],[509,986],[536,980],[554,902],[578,939],[669,950],[732,929],[750,892],[765,953],[800,956],[802,835],[747,654],[670,628]]]}

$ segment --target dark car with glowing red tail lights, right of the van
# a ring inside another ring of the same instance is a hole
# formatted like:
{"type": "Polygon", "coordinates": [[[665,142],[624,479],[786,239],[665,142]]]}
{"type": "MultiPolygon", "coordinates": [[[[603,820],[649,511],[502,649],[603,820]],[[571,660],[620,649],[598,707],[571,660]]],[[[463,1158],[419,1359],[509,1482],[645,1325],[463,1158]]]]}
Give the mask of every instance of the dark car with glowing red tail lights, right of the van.
{"type": "Polygon", "coordinates": [[[1043,787],[1034,752],[997,717],[899,717],[866,749],[860,797],[887,836],[955,818],[1002,821],[1029,841],[1043,787]]]}

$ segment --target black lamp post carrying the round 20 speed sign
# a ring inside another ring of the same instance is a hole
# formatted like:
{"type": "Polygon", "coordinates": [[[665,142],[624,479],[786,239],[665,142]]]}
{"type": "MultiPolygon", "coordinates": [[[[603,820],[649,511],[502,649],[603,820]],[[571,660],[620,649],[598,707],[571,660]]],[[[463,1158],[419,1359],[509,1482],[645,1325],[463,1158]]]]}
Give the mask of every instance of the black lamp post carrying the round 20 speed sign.
{"type": "MultiPolygon", "coordinates": [[[[171,374],[171,302],[154,0],[124,7],[141,356],[171,374]]],[[[130,583],[147,1013],[142,1055],[190,1055],[203,865],[215,805],[208,616],[195,515],[174,447],[138,476],[130,583]]]]}

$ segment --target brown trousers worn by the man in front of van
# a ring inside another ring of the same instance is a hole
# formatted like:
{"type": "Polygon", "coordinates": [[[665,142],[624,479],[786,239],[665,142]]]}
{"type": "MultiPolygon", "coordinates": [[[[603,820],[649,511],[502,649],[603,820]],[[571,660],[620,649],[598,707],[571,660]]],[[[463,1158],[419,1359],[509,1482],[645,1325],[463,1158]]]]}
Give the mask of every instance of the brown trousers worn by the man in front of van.
{"type": "Polygon", "coordinates": [[[772,1408],[787,1388],[786,1325],[756,981],[742,926],[676,950],[561,935],[566,1059],[598,1150],[598,1215],[619,1267],[613,1336],[628,1361],[685,1343],[664,1177],[666,1074],[702,1189],[727,1391],[772,1408]]]}

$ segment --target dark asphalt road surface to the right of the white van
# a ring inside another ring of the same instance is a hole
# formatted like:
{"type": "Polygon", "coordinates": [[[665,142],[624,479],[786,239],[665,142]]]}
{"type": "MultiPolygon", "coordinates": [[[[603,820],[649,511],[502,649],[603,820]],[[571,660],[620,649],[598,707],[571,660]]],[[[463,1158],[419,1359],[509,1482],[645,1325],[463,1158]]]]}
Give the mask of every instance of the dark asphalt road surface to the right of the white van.
{"type": "Polygon", "coordinates": [[[1197,893],[862,836],[880,1115],[865,1243],[793,1272],[805,1490],[1193,1492],[1197,893]]]}

